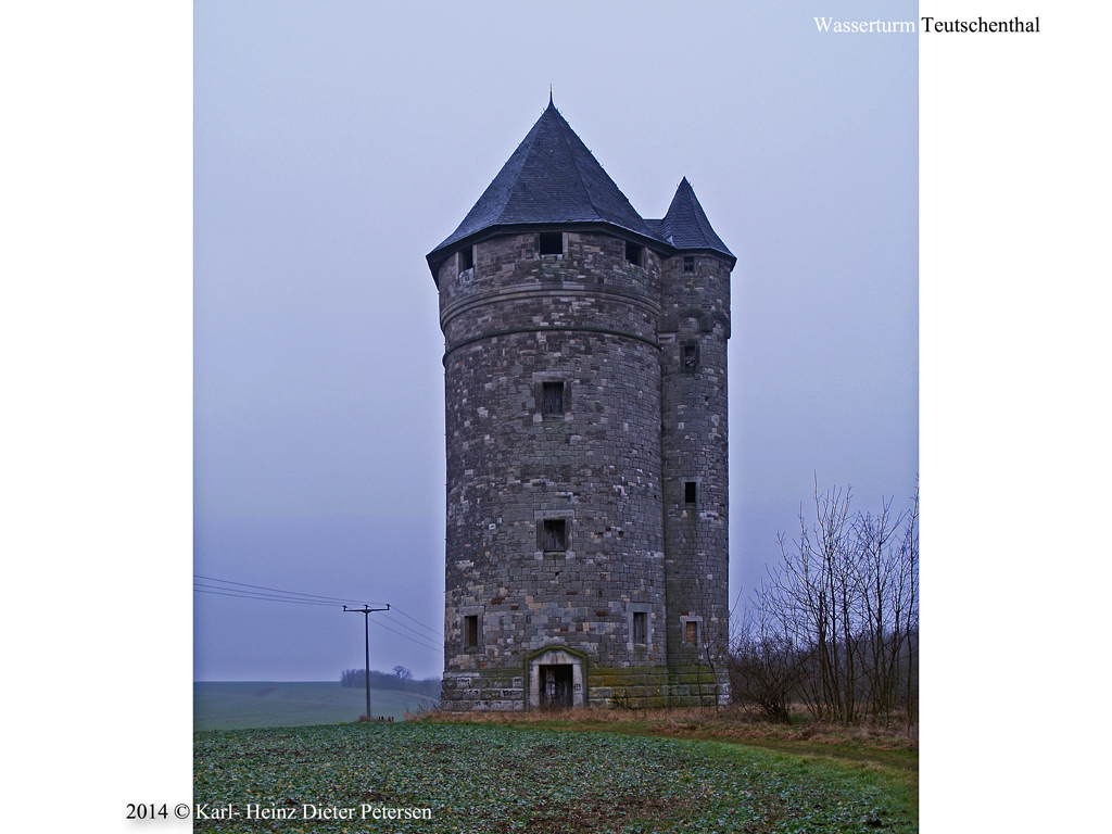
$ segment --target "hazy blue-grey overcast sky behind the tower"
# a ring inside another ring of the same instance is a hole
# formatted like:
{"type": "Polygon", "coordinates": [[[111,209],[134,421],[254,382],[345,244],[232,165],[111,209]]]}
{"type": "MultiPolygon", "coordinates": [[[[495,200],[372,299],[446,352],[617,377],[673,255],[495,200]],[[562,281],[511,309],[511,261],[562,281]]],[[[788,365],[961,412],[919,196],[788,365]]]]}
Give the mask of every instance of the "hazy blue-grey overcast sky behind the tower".
{"type": "MultiPolygon", "coordinates": [[[[663,217],[687,177],[737,255],[732,600],[775,560],[816,477],[852,485],[862,509],[907,506],[919,38],[820,33],[806,3],[633,10],[196,4],[197,574],[388,603],[441,629],[444,339],[424,257],[549,87],[642,216],[663,217]]],[[[916,7],[853,13],[914,20],[916,7]]],[[[361,665],[358,617],[206,590],[197,679],[361,665]]],[[[374,666],[439,674],[436,636],[374,619],[424,634],[373,629],[374,666]]]]}

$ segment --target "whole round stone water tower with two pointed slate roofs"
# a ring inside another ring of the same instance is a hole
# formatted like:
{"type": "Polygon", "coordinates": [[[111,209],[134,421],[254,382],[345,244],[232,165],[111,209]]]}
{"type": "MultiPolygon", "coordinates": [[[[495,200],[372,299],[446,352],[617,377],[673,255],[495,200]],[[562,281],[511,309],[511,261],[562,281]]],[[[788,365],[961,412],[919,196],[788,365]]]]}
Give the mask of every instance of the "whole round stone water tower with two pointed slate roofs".
{"type": "Polygon", "coordinates": [[[686,179],[642,218],[552,101],[428,255],[445,708],[725,697],[735,260],[686,179]]]}

